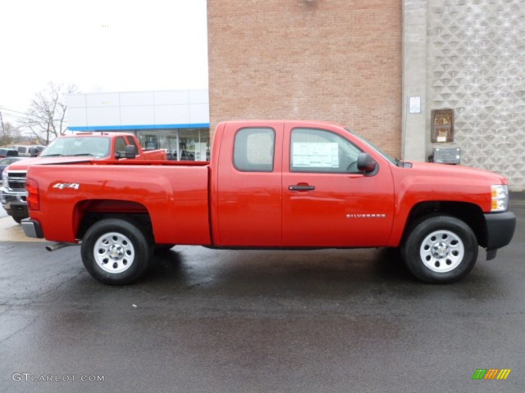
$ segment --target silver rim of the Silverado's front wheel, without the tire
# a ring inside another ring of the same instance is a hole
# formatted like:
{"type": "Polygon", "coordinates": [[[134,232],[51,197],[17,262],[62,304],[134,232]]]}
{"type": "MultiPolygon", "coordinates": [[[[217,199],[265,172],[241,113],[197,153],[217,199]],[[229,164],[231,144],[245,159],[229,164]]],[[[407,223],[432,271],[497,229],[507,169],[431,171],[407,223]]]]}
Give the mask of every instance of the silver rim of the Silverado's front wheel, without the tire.
{"type": "Polygon", "coordinates": [[[421,243],[419,256],[428,269],[445,273],[459,266],[465,256],[465,246],[454,232],[434,231],[421,243]]]}

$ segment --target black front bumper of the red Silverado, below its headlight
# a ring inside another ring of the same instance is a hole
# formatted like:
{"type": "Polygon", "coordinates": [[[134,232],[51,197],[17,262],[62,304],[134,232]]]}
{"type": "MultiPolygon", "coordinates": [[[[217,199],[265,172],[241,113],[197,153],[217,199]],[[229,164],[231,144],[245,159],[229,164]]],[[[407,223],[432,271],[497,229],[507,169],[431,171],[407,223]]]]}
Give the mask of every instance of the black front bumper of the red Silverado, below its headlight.
{"type": "Polygon", "coordinates": [[[487,226],[487,259],[489,253],[496,256],[495,250],[505,247],[512,240],[516,229],[516,215],[512,212],[486,213],[485,223],[487,226]]]}

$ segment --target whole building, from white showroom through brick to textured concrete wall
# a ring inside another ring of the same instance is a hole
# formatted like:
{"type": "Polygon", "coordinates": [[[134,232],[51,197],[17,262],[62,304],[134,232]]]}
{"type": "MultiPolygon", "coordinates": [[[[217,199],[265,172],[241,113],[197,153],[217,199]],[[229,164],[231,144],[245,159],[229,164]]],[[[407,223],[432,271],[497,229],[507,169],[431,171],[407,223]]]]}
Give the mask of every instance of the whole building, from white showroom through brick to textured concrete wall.
{"type": "Polygon", "coordinates": [[[205,159],[220,121],[318,119],[525,189],[522,0],[208,0],[207,18],[209,90],[69,96],[69,128],[205,159]]]}

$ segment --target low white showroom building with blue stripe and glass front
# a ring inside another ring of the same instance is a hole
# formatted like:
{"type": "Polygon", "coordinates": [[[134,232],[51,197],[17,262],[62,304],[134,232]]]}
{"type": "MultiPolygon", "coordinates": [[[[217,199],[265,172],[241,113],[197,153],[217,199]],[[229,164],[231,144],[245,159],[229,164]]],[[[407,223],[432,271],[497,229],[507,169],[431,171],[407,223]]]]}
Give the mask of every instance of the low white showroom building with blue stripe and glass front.
{"type": "Polygon", "coordinates": [[[68,129],[130,132],[170,159],[209,158],[207,90],[70,94],[68,129]]]}

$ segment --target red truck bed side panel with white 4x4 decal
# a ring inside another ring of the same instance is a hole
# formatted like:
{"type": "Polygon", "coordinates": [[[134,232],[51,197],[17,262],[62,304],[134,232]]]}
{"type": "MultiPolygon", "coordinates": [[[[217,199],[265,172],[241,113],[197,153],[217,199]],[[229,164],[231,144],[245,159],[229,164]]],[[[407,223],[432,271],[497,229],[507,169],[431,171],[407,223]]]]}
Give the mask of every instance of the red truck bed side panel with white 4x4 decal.
{"type": "Polygon", "coordinates": [[[48,192],[41,193],[41,209],[32,216],[54,217],[53,225],[45,227],[46,238],[74,242],[88,211],[149,213],[156,242],[208,245],[208,172],[207,162],[125,160],[35,165],[29,168],[28,178],[37,177],[40,190],[48,192]],[[58,187],[57,181],[61,184],[58,187]],[[111,199],[103,195],[111,195],[111,199]],[[73,222],[62,214],[71,210],[75,212],[73,222]]]}

